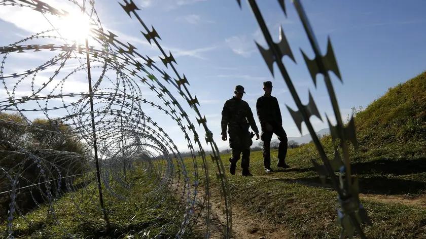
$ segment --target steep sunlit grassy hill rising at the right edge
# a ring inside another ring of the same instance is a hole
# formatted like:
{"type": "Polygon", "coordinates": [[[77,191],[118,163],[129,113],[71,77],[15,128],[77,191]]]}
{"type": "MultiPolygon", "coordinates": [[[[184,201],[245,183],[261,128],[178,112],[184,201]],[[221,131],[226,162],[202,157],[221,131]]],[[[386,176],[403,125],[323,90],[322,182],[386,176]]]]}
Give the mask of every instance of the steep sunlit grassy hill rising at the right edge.
{"type": "Polygon", "coordinates": [[[426,72],[391,88],[356,116],[363,151],[426,154],[426,72]],[[394,150],[388,150],[388,148],[394,150]]]}

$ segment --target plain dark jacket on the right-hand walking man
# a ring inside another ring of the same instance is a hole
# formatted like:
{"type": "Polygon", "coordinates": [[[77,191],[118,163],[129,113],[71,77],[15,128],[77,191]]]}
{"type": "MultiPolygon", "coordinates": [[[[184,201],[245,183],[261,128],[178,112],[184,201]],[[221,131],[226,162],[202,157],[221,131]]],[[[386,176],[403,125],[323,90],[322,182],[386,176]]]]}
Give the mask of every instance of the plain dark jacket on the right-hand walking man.
{"type": "Polygon", "coordinates": [[[262,130],[266,123],[282,126],[281,111],[275,97],[266,97],[265,95],[259,97],[256,101],[256,112],[262,130]]]}

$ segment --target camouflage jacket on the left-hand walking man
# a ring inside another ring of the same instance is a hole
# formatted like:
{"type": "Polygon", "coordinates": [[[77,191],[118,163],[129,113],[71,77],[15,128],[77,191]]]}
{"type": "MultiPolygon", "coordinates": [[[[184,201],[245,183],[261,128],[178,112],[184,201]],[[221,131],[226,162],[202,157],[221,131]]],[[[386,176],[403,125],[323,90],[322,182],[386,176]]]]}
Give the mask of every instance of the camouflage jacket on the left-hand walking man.
{"type": "Polygon", "coordinates": [[[226,134],[226,128],[228,132],[239,133],[248,131],[248,127],[252,127],[255,133],[259,133],[256,126],[253,112],[247,102],[244,100],[237,99],[235,96],[227,100],[222,109],[222,133],[226,134]]]}

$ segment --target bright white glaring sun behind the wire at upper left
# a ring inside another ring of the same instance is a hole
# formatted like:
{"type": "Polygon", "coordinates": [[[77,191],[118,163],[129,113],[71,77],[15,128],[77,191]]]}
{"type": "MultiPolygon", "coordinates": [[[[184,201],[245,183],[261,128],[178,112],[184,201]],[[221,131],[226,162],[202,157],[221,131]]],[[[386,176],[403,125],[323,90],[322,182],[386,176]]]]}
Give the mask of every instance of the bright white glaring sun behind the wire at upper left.
{"type": "Polygon", "coordinates": [[[90,36],[91,23],[90,18],[82,13],[70,13],[66,17],[58,19],[55,24],[59,33],[65,39],[73,43],[84,44],[85,39],[90,36]]]}

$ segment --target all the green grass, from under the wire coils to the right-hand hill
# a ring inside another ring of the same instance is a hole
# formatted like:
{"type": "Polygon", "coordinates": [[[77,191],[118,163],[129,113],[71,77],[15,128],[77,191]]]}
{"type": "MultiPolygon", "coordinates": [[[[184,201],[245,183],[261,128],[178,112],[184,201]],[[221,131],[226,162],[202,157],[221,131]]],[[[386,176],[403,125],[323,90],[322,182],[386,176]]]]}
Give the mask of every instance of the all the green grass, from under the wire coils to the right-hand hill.
{"type": "MultiPolygon", "coordinates": [[[[410,81],[400,84],[381,98],[372,102],[365,110],[356,113],[357,138],[360,149],[350,146],[351,170],[359,176],[360,192],[375,197],[361,196],[361,203],[367,210],[373,226],[363,226],[368,238],[426,238],[426,207],[404,203],[424,196],[426,190],[426,72],[410,81]],[[394,201],[384,201],[381,197],[392,195],[394,201]],[[399,201],[398,201],[399,200],[399,201]]],[[[322,139],[326,153],[333,157],[331,138],[322,139]]],[[[277,151],[271,150],[272,158],[277,151]]],[[[264,216],[269,222],[286,227],[294,238],[338,238],[340,226],[334,224],[337,212],[337,193],[329,182],[321,185],[311,160],[319,161],[313,144],[289,149],[287,162],[291,169],[265,174],[261,152],[252,152],[250,169],[254,177],[242,177],[241,169],[236,175],[228,172],[229,154],[221,158],[226,169],[233,205],[245,208],[253,214],[264,216]]],[[[210,186],[219,188],[214,165],[207,156],[210,172],[210,186]]],[[[189,177],[194,179],[192,160],[186,159],[189,177]]],[[[200,167],[202,161],[197,159],[200,167]]],[[[272,165],[276,163],[272,160],[272,165]]],[[[200,169],[200,168],[199,168],[200,169]]],[[[198,171],[200,188],[205,185],[202,171],[198,171]]],[[[144,197],[152,189],[137,182],[150,183],[152,178],[144,178],[143,172],[132,174],[131,190],[120,189],[120,195],[127,198],[117,200],[105,192],[105,202],[110,210],[113,230],[104,230],[105,224],[98,205],[96,188],[93,193],[68,193],[56,202],[56,218],[46,217],[47,207],[29,213],[26,218],[14,220],[16,236],[50,238],[64,234],[64,231],[80,238],[146,238],[148,231],[158,233],[161,226],[170,223],[164,238],[174,237],[183,219],[183,212],[168,208],[161,218],[157,218],[166,207],[177,205],[170,192],[144,197]],[[79,198],[79,210],[71,195],[79,198]],[[92,198],[89,195],[93,195],[92,198]],[[161,195],[161,198],[158,196],[161,195]],[[163,197],[164,196],[164,197],[163,197]],[[154,206],[160,201],[159,207],[154,206]],[[85,212],[81,214],[78,212],[85,212]]],[[[192,181],[193,182],[193,181],[192,181]]],[[[202,189],[199,189],[202,191],[202,189]]],[[[214,196],[214,195],[213,195],[214,196]]],[[[425,200],[426,202],[426,200],[425,200]]],[[[424,204],[426,205],[426,203],[424,204]]],[[[0,228],[6,230],[5,225],[0,228]]],[[[202,238],[196,230],[185,238],[202,238]]],[[[356,238],[358,238],[356,236],[356,238]]]]}

